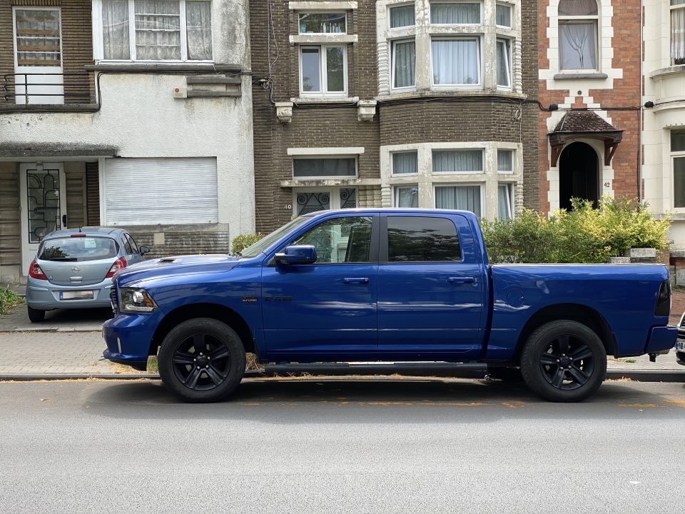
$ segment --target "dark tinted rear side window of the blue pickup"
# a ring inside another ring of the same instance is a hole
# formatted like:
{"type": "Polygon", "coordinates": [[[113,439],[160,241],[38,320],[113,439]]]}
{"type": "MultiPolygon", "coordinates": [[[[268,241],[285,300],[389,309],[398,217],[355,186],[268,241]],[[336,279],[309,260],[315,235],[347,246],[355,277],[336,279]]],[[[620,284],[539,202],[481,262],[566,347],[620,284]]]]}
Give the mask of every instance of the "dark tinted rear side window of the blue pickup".
{"type": "Polygon", "coordinates": [[[447,218],[387,217],[388,262],[462,260],[457,227],[447,218]]]}

